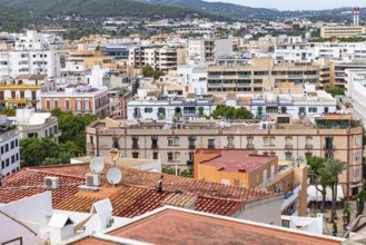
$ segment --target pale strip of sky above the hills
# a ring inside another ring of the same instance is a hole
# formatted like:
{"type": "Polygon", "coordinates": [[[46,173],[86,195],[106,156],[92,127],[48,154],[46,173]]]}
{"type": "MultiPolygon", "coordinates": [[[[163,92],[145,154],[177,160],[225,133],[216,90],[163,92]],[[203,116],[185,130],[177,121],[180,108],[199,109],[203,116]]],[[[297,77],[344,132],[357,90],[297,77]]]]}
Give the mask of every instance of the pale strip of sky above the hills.
{"type": "Polygon", "coordinates": [[[366,0],[206,0],[231,2],[249,7],[276,8],[279,10],[334,9],[339,7],[366,7],[366,0]]]}

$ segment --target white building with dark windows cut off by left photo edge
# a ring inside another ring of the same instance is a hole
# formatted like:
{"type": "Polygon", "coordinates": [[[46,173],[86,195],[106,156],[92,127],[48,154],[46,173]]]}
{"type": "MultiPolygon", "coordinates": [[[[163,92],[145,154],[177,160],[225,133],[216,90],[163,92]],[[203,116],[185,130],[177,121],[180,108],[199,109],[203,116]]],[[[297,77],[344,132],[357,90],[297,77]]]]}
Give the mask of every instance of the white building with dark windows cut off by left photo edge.
{"type": "Polygon", "coordinates": [[[0,117],[0,174],[8,176],[20,169],[19,134],[6,116],[0,117]]]}

